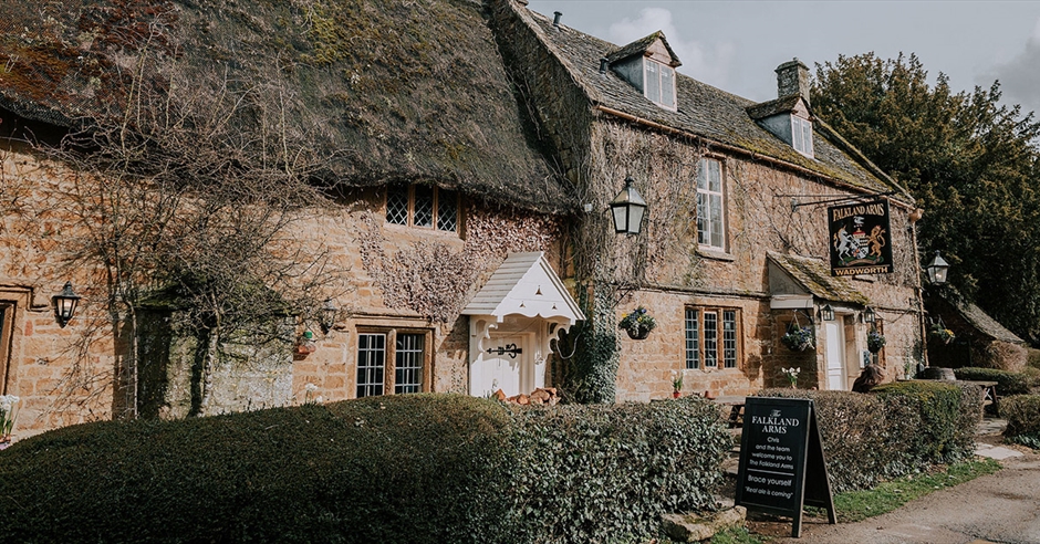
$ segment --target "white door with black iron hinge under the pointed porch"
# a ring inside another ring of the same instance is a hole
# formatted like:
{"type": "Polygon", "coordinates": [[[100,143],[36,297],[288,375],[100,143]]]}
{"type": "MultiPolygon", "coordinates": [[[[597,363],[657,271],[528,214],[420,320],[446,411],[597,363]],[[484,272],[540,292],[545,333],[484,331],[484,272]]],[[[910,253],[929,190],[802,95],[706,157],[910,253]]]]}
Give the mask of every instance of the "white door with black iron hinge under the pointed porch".
{"type": "MultiPolygon", "coordinates": [[[[544,368],[537,372],[529,335],[496,335],[485,342],[485,351],[470,365],[470,394],[487,397],[501,389],[507,397],[530,394],[545,384],[544,368]],[[540,381],[540,384],[539,384],[540,381]]],[[[544,367],[544,365],[541,365],[544,367]]]]}

